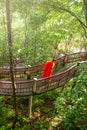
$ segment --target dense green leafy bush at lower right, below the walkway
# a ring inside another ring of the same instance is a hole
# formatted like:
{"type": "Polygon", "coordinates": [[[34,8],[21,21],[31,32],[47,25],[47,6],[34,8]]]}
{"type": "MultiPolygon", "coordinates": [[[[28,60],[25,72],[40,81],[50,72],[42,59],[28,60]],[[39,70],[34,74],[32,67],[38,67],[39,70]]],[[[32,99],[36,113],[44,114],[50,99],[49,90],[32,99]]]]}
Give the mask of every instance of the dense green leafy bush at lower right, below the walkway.
{"type": "MultiPolygon", "coordinates": [[[[84,68],[80,65],[79,68],[84,68]]],[[[85,64],[86,67],[86,64],[85,64]]],[[[66,130],[87,128],[87,73],[82,72],[67,84],[67,88],[55,101],[58,117],[66,130]],[[74,83],[75,82],[75,83],[74,83]],[[74,86],[73,86],[74,84],[74,86]]]]}

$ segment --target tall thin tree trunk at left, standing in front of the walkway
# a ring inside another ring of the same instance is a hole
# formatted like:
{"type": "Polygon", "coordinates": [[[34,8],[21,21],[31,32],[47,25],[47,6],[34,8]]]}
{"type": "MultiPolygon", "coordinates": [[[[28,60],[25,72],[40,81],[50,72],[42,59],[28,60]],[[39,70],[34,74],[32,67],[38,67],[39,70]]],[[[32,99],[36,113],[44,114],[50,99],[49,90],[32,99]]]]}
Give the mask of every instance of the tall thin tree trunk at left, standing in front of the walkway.
{"type": "MultiPolygon", "coordinates": [[[[14,98],[14,109],[15,109],[15,119],[17,119],[17,104],[16,104],[16,93],[15,93],[15,83],[13,75],[13,55],[12,55],[12,32],[11,32],[11,15],[10,15],[10,0],[6,0],[6,18],[7,18],[7,35],[8,35],[8,47],[9,47],[9,58],[10,58],[10,75],[13,87],[13,98],[14,98]]],[[[16,120],[15,120],[16,122],[16,120]]],[[[13,123],[15,124],[15,123],[13,123]]]]}

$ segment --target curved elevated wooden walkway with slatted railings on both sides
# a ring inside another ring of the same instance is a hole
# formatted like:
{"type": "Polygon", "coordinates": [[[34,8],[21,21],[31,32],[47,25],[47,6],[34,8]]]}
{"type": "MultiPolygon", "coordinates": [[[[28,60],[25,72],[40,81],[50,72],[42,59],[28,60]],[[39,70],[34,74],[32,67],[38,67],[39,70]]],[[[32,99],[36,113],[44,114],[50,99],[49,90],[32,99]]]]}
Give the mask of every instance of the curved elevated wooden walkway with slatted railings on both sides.
{"type": "MultiPolygon", "coordinates": [[[[30,96],[63,86],[74,76],[77,69],[76,62],[85,60],[87,60],[87,52],[79,52],[57,58],[56,67],[59,67],[61,65],[64,66],[67,63],[73,62],[75,62],[75,65],[63,72],[54,74],[49,78],[34,78],[31,80],[15,81],[16,96],[30,96]]],[[[43,70],[43,65],[44,64],[40,64],[37,66],[31,66],[29,68],[14,68],[13,71],[15,73],[29,71],[29,73],[32,74],[33,77],[35,73],[41,73],[41,71],[43,70]]],[[[2,71],[5,72],[4,68],[0,68],[0,74],[2,73],[2,71]]],[[[7,71],[10,72],[9,69],[7,69],[7,71]]],[[[0,95],[13,96],[11,81],[0,80],[0,95]]]]}

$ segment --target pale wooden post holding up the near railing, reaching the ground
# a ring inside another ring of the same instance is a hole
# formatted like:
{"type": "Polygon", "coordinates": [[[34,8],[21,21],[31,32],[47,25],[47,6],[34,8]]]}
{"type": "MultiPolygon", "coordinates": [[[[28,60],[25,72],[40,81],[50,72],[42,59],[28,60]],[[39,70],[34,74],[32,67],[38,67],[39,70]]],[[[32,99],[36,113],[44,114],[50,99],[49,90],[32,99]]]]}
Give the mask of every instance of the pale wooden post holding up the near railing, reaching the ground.
{"type": "MultiPolygon", "coordinates": [[[[36,92],[36,84],[37,84],[37,78],[34,78],[33,93],[36,92]]],[[[33,101],[33,95],[31,95],[29,98],[29,118],[32,117],[32,101],[33,101]]]]}

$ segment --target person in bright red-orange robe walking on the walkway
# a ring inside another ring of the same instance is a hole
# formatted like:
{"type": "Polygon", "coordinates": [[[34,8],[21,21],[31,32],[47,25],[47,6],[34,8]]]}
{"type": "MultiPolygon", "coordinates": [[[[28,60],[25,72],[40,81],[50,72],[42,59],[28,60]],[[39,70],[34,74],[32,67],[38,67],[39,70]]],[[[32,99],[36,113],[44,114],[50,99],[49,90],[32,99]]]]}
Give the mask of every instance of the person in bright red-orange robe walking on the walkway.
{"type": "Polygon", "coordinates": [[[51,61],[47,61],[44,64],[44,69],[43,69],[43,74],[42,74],[43,78],[47,78],[52,75],[53,68],[55,66],[55,61],[56,61],[56,59],[53,58],[51,61]]]}

